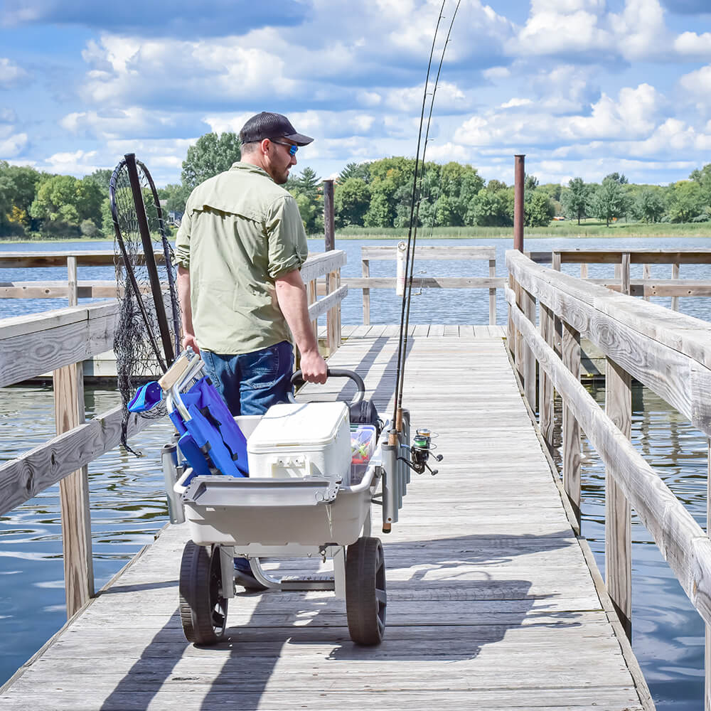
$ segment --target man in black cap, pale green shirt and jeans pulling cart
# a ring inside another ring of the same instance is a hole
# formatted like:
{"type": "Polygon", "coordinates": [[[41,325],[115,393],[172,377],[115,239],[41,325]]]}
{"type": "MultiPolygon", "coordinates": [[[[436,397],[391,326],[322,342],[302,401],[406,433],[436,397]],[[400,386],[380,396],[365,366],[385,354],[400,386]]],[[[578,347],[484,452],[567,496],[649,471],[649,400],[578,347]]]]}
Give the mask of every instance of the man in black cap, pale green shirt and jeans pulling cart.
{"type": "Polygon", "coordinates": [[[281,187],[299,146],[313,140],[282,114],[253,116],[240,131],[242,160],[193,190],[178,230],[183,348],[201,353],[232,415],[286,400],[292,336],[304,380],[326,382],[299,272],[306,233],[281,187]]]}

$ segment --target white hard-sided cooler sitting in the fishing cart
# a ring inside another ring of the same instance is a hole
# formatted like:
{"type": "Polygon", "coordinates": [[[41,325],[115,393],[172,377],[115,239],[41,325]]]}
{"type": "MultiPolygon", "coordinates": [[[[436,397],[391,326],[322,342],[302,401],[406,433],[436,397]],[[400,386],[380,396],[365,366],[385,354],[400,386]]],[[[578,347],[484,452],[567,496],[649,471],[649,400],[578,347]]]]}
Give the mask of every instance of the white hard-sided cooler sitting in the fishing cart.
{"type": "Polygon", "coordinates": [[[351,476],[351,422],[345,402],[272,405],[247,439],[253,477],[351,476]]]}

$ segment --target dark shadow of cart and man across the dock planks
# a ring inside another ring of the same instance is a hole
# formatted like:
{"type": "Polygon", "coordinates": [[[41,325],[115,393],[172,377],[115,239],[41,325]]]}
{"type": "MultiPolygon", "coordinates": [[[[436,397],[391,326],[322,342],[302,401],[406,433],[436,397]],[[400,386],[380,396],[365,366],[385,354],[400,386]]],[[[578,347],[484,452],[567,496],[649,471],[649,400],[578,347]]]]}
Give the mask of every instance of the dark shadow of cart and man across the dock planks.
{"type": "Polygon", "coordinates": [[[578,626],[581,613],[562,609],[555,591],[532,593],[532,581],[506,575],[507,564],[515,573],[516,557],[551,552],[570,542],[563,531],[386,540],[387,626],[383,643],[375,647],[351,642],[345,604],[328,593],[237,594],[230,601],[230,616],[244,620],[233,623],[213,647],[188,644],[176,610],[101,708],[121,707],[137,688],[147,707],[166,684],[198,683],[193,675],[176,675],[176,665],[186,656],[215,666],[213,678],[199,675],[206,689],[203,709],[225,707],[228,695],[238,695],[238,707],[246,710],[257,708],[274,686],[277,665],[283,673],[293,660],[301,669],[308,663],[311,673],[324,678],[329,663],[358,660],[405,663],[405,674],[407,662],[427,661],[430,673],[436,673],[433,664],[475,659],[484,646],[514,630],[525,634],[541,627],[578,626]]]}

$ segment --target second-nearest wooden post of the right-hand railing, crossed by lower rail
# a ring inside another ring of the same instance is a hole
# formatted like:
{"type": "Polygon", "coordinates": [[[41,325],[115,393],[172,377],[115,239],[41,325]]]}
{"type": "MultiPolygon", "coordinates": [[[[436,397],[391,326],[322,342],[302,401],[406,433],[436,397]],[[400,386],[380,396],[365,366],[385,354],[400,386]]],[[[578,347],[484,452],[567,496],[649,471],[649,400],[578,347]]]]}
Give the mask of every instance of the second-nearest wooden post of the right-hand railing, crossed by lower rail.
{"type": "MultiPolygon", "coordinates": [[[[631,375],[606,358],[605,412],[627,439],[632,432],[631,375]]],[[[632,638],[632,530],[629,502],[615,480],[605,473],[605,578],[607,592],[627,637],[632,638]]]]}

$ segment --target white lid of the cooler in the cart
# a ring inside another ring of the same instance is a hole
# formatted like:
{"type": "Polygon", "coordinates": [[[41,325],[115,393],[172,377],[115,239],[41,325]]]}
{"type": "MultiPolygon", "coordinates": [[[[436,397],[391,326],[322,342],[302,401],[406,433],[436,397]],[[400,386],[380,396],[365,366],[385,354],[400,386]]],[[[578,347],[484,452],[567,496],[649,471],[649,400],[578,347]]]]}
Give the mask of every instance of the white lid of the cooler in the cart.
{"type": "Polygon", "coordinates": [[[336,439],[344,417],[348,418],[345,402],[272,405],[247,439],[247,450],[258,452],[275,447],[328,444],[336,439]]]}

